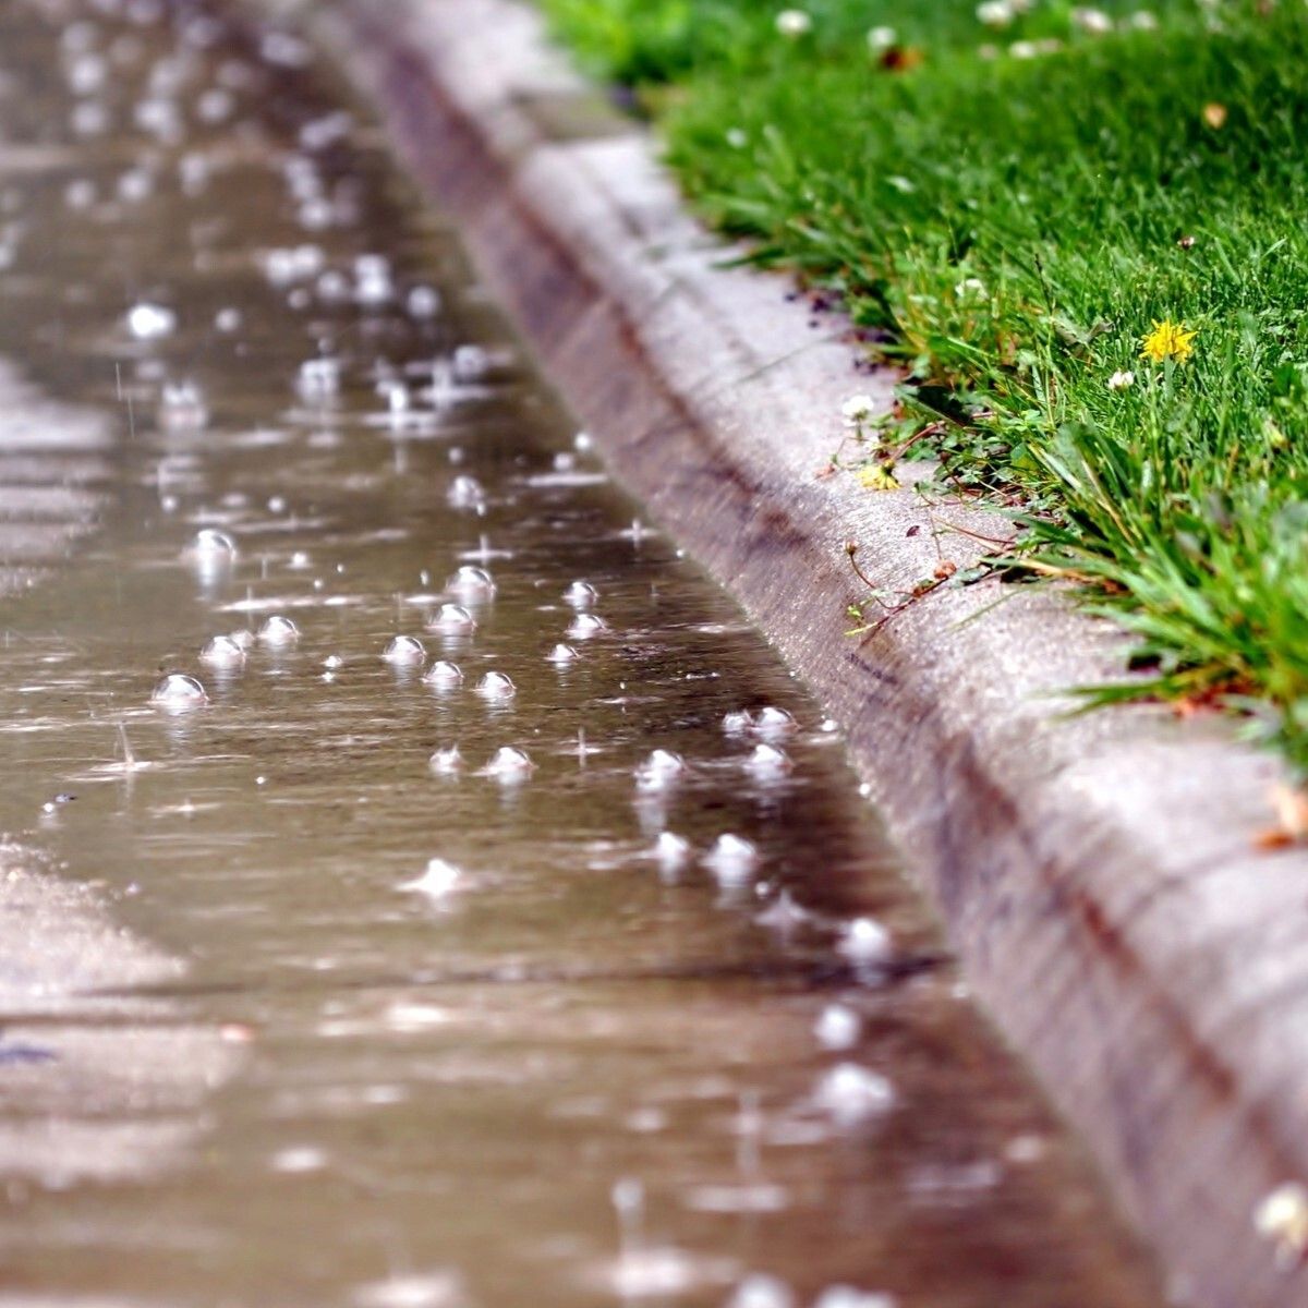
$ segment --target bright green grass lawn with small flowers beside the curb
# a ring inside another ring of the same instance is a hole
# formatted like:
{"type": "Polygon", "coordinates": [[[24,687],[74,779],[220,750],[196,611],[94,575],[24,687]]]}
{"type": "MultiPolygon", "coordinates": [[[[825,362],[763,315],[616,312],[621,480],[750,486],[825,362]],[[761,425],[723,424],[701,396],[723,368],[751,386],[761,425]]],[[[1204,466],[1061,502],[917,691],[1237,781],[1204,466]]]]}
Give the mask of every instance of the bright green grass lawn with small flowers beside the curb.
{"type": "Polygon", "coordinates": [[[1016,492],[1025,565],[1139,638],[1099,697],[1216,697],[1308,773],[1303,0],[1105,5],[1099,35],[1048,0],[1001,31],[808,0],[798,39],[759,0],[542,3],[701,212],[884,334],[884,442],[925,430],[955,487],[1016,492]],[[1189,361],[1141,357],[1155,319],[1197,330],[1189,361]]]}

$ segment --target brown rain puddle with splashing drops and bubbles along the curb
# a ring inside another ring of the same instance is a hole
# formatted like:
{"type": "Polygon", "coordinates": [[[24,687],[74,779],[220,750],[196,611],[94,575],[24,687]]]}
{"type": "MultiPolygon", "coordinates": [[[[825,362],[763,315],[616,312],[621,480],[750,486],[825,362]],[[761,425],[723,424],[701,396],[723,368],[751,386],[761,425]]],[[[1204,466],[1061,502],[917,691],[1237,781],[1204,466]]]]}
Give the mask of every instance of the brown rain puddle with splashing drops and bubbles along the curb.
{"type": "Polygon", "coordinates": [[[114,433],[0,610],[0,828],[162,960],[3,993],[0,1301],[1156,1304],[837,734],[313,52],[9,0],[0,123],[0,356],[114,433]]]}

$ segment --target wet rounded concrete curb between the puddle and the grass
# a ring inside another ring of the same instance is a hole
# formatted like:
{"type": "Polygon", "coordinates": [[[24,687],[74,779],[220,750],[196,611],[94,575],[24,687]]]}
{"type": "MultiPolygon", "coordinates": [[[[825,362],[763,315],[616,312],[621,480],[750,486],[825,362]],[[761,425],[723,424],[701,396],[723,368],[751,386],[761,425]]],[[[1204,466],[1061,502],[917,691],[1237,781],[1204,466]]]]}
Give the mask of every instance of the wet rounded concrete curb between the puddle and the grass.
{"type": "MultiPolygon", "coordinates": [[[[619,476],[840,721],[976,991],[1176,1299],[1308,1301],[1308,1274],[1250,1227],[1269,1190],[1308,1177],[1308,855],[1252,844],[1277,765],[1158,710],[1061,715],[1059,688],[1120,659],[1049,591],[994,607],[989,586],[942,590],[846,637],[848,539],[889,587],[939,561],[912,493],[814,475],[840,402],[886,398],[889,378],[859,378],[777,280],[722,267],[649,140],[587,122],[593,94],[514,0],[298,8],[619,476]]],[[[963,535],[940,547],[976,555],[963,535]]]]}

